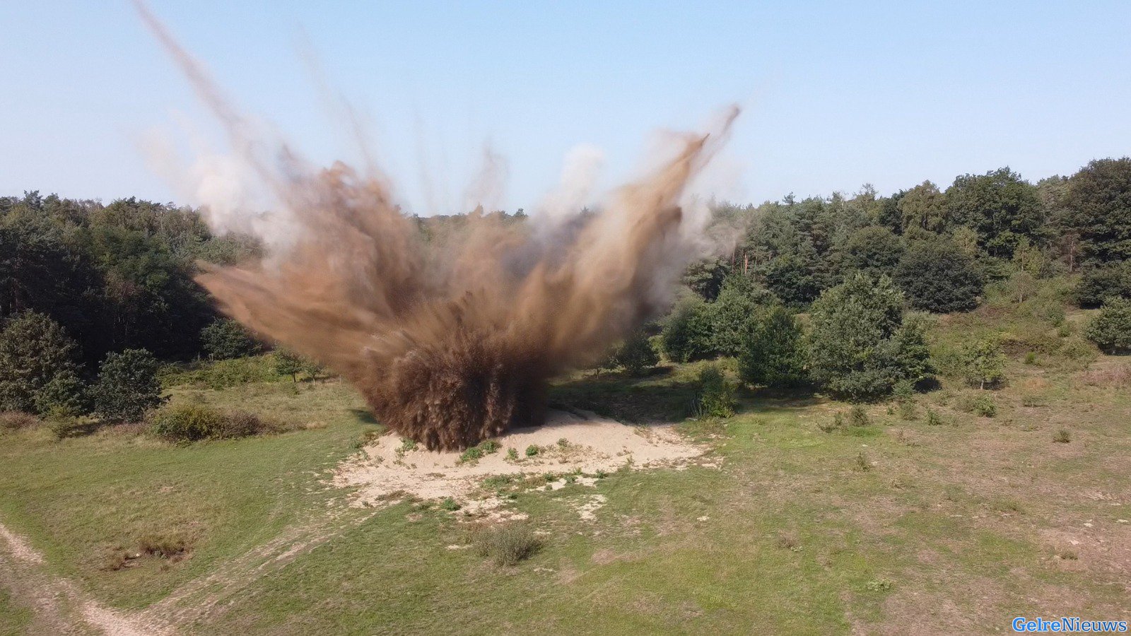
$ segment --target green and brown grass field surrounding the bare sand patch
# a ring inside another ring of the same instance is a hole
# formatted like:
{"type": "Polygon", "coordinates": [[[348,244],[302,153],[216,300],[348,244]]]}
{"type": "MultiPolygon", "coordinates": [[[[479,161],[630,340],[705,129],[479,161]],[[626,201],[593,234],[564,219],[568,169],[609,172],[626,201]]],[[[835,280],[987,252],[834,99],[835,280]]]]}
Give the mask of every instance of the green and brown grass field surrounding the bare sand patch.
{"type": "MultiPolygon", "coordinates": [[[[1065,354],[1071,329],[983,309],[941,319],[933,346],[944,358],[986,329],[1013,335],[1008,385],[984,392],[993,418],[967,413],[982,394],[948,380],[832,432],[845,404],[742,393],[734,418],[681,426],[708,447],[699,465],[518,493],[544,541],[513,567],[461,549],[459,512],[346,505],[328,472],[378,427],[334,380],[171,392],[296,424],[268,437],[3,433],[0,522],[45,574],[181,633],[993,633],[1015,616],[1128,619],[1131,362],[1065,354]],[[594,492],[605,506],[582,521],[594,492]]],[[[679,420],[693,371],[578,375],[552,399],[679,420]]],[[[0,593],[0,633],[42,629],[18,596],[0,593]]]]}

